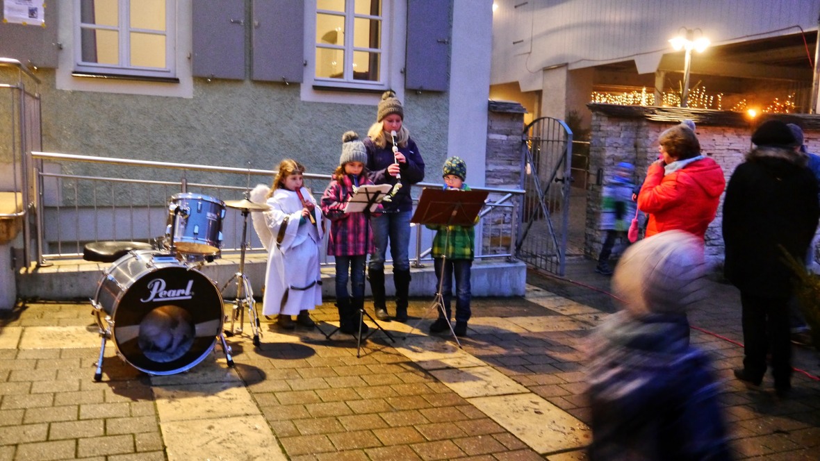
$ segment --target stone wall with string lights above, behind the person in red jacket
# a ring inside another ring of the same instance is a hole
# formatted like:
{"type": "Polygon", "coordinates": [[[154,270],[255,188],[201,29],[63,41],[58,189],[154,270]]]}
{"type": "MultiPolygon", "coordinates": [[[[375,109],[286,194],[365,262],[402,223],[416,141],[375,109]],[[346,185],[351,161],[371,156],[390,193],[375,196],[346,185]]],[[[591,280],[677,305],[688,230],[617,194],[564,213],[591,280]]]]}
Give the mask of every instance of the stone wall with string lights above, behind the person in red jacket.
{"type": "MultiPolygon", "coordinates": [[[[697,109],[590,104],[590,110],[590,176],[599,179],[590,183],[586,191],[585,254],[592,257],[598,256],[606,237],[604,231],[598,230],[602,184],[612,177],[618,162],[628,161],[635,165],[635,183],[642,182],[649,164],[658,158],[658,135],[681,120],[691,119],[697,124],[695,133],[701,151],[721,166],[728,183],[731,173],[749,151],[753,126],[760,121],[746,120],[733,112],[697,109]]],[[[820,152],[820,116],[779,115],[777,118],[804,127],[806,147],[809,151],[820,152]]],[[[717,216],[706,231],[706,256],[713,266],[722,264],[723,260],[722,211],[723,197],[717,216]]],[[[616,255],[624,247],[616,246],[616,255]]]]}

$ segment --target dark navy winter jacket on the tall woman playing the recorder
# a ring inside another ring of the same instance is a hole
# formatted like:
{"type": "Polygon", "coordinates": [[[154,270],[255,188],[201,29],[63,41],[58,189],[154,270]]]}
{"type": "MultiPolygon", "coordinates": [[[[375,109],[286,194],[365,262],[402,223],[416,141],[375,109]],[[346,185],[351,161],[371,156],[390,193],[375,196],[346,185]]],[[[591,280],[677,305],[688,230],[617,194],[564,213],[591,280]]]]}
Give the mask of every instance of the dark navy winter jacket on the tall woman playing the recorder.
{"type": "MultiPolygon", "coordinates": [[[[395,184],[397,179],[387,173],[387,167],[394,163],[393,145],[388,142],[383,148],[379,148],[373,143],[371,138],[364,139],[367,148],[367,170],[370,171],[370,179],[374,184],[395,184]]],[[[411,211],[412,197],[410,197],[410,185],[420,183],[424,179],[424,160],[418,151],[416,142],[408,139],[407,145],[399,147],[407,159],[407,162],[399,164],[401,166],[402,188],[396,192],[389,202],[383,202],[385,213],[395,211],[411,211]]]]}

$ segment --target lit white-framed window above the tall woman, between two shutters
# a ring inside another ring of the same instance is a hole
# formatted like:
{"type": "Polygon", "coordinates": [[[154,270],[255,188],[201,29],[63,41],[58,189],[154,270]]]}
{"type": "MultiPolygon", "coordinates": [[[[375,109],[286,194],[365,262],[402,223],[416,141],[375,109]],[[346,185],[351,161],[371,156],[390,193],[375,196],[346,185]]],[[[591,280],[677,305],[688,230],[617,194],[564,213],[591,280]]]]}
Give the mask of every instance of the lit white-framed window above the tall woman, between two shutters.
{"type": "Polygon", "coordinates": [[[316,0],[315,85],[387,86],[386,0],[316,0]]]}

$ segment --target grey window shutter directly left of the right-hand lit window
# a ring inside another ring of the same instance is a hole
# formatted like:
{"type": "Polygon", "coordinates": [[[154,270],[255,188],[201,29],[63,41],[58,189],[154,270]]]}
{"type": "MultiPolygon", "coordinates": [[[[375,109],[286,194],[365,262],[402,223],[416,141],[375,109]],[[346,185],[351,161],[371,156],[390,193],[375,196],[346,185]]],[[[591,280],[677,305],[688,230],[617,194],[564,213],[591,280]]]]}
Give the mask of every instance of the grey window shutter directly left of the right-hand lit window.
{"type": "Polygon", "coordinates": [[[302,83],[303,0],[253,0],[251,78],[302,83]]]}

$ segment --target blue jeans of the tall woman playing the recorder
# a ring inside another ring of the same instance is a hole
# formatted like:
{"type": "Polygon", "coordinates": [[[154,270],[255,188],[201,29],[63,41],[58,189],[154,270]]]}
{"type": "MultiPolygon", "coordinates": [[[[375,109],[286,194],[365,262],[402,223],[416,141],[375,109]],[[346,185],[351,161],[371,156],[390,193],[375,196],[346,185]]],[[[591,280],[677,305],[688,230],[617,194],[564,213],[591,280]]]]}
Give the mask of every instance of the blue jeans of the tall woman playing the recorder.
{"type": "Polygon", "coordinates": [[[373,228],[373,242],[376,252],[370,256],[369,269],[385,270],[385,255],[389,239],[390,258],[393,260],[393,270],[410,270],[408,247],[410,246],[410,217],[411,211],[398,213],[384,213],[370,219],[373,228]]]}

